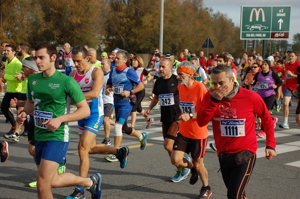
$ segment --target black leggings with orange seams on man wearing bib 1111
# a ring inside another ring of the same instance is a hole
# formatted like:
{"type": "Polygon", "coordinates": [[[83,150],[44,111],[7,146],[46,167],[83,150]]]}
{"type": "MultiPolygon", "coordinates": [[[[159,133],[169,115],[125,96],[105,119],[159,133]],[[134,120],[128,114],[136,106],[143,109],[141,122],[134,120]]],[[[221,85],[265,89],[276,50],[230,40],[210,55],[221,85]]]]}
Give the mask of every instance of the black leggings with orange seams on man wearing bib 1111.
{"type": "Polygon", "coordinates": [[[232,168],[221,168],[228,199],[244,199],[245,188],[255,165],[256,155],[248,162],[232,168]]]}

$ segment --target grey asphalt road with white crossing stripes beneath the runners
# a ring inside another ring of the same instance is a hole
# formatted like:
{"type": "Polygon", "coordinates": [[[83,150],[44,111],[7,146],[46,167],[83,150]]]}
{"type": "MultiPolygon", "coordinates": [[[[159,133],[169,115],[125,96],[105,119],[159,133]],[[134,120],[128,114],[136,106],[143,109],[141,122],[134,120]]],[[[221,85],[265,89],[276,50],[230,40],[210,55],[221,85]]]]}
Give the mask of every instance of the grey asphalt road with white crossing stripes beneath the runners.
{"type": "MultiPolygon", "coordinates": [[[[147,86],[146,97],[149,91],[150,85],[147,86]]],[[[143,105],[148,103],[146,97],[143,105]]],[[[283,121],[282,110],[279,114],[273,114],[279,119],[275,128],[277,157],[271,161],[266,160],[263,153],[265,140],[260,138],[257,140],[258,158],[245,191],[248,199],[300,199],[300,126],[294,121],[296,106],[294,99],[292,103],[289,130],[278,128],[283,121]]],[[[136,138],[123,136],[122,146],[127,145],[130,148],[126,168],[120,169],[118,162],[106,162],[103,159],[104,155],[90,156],[89,175],[94,173],[102,175],[102,199],[194,199],[199,194],[201,183],[198,181],[195,185],[189,185],[190,176],[179,183],[169,182],[169,178],[175,174],[175,167],[171,165],[163,149],[159,113],[159,110],[150,113],[155,121],[147,130],[149,139],[145,150],[139,149],[136,138]]],[[[0,115],[1,142],[5,140],[2,136],[10,129],[10,125],[4,122],[5,118],[0,115]]],[[[76,123],[71,123],[70,127],[71,140],[67,152],[66,172],[78,175],[76,123]]],[[[141,116],[137,117],[135,128],[140,132],[145,131],[145,122],[141,116]]],[[[104,133],[101,128],[96,138],[97,143],[100,143],[103,138],[104,133]]],[[[5,163],[0,164],[0,199],[37,198],[36,188],[27,186],[35,180],[36,175],[36,166],[27,152],[27,139],[21,138],[19,143],[7,142],[9,158],[5,163]]],[[[209,124],[208,144],[210,142],[213,142],[211,124],[209,124]]],[[[209,147],[204,164],[208,171],[209,186],[213,192],[210,199],[226,199],[226,188],[218,172],[216,153],[209,147]]],[[[55,199],[64,199],[73,192],[73,189],[74,187],[56,188],[52,189],[52,192],[55,199]]],[[[90,199],[90,193],[85,193],[86,198],[90,199]]]]}

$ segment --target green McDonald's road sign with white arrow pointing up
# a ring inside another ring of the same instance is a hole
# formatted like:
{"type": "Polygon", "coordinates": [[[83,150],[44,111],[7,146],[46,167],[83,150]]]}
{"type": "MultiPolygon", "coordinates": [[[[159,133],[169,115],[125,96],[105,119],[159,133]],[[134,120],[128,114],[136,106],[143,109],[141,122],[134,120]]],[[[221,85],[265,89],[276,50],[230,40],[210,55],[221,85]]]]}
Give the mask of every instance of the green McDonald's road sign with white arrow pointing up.
{"type": "Polygon", "coordinates": [[[240,39],[288,39],[290,6],[241,6],[240,39]]]}

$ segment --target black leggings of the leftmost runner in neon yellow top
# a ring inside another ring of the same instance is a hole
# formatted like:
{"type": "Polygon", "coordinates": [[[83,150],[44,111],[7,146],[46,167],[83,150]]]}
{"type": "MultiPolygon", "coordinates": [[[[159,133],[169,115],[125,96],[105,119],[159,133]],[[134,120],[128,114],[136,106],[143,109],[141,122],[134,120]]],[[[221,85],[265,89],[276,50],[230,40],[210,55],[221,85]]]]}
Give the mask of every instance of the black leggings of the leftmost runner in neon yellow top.
{"type": "MultiPolygon", "coordinates": [[[[5,116],[5,118],[10,122],[12,127],[15,127],[15,120],[13,114],[9,111],[10,100],[13,99],[14,97],[16,99],[19,99],[19,94],[20,93],[5,93],[1,103],[1,111],[5,116]]],[[[17,107],[15,108],[17,109],[17,107]]]]}

